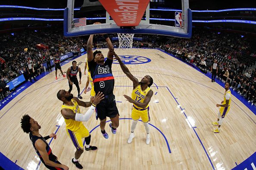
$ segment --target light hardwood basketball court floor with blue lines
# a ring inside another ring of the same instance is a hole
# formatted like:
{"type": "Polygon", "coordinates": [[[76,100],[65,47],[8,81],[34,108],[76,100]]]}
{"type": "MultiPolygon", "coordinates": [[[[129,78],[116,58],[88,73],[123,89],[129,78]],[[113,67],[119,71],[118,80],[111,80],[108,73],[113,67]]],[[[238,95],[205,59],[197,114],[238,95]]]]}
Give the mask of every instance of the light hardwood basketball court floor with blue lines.
{"type": "MultiPolygon", "coordinates": [[[[102,52],[106,57],[107,49],[102,49],[102,52]]],[[[231,169],[236,166],[235,162],[240,164],[256,151],[256,116],[234,96],[231,97],[231,109],[224,119],[221,133],[212,132],[215,127],[211,123],[216,121],[216,103],[223,100],[223,87],[159,50],[116,49],[116,53],[143,56],[152,60],[147,64],[131,64],[127,67],[139,80],[145,75],[153,77],[155,84],[152,86],[154,95],[150,101],[150,124],[156,128],[151,126],[151,142],[147,145],[144,125],[141,122],[137,124],[131,144],[127,143],[130,119],[120,119],[115,135],[111,133],[107,123],[107,140],[97,127],[91,132],[91,145],[97,146],[98,150],[84,151],[80,158],[84,169],[231,169]]],[[[86,57],[87,55],[83,55],[76,61],[84,62],[86,57]]],[[[65,71],[70,66],[71,62],[63,65],[62,70],[65,71]]],[[[83,73],[84,63],[81,68],[83,73]]],[[[132,105],[125,100],[123,94],[131,95],[132,82],[118,64],[113,64],[112,71],[120,118],[131,118],[132,105]]],[[[82,76],[81,90],[85,86],[86,77],[82,76]]],[[[41,125],[42,136],[57,131],[57,139],[50,143],[50,147],[62,164],[68,165],[71,170],[76,169],[70,162],[74,157],[75,147],[66,134],[64,119],[60,114],[62,103],[56,97],[59,89],[68,90],[68,81],[63,77],[55,80],[52,72],[35,82],[1,110],[0,116],[8,112],[0,119],[0,152],[13,162],[17,160],[17,164],[24,169],[35,170],[40,161],[28,134],[23,133],[20,127],[20,119],[25,113],[41,125]]],[[[72,93],[77,95],[75,85],[72,93]]],[[[82,97],[82,100],[88,101],[89,93],[82,94],[82,97]]],[[[86,110],[81,107],[82,113],[86,110]]],[[[88,122],[84,122],[89,131],[98,124],[99,121],[95,120],[94,115],[88,122]]],[[[46,168],[40,164],[40,169],[46,168]]]]}

